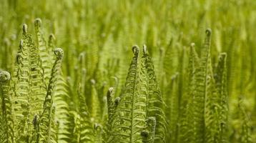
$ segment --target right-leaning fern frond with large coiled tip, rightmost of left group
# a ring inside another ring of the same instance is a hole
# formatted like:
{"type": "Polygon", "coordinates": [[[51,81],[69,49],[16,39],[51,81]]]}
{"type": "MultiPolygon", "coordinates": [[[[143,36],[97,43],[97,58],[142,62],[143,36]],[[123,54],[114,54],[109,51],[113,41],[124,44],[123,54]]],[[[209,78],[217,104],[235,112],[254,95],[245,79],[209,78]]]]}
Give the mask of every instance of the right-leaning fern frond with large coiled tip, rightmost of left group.
{"type": "Polygon", "coordinates": [[[56,48],[54,54],[56,55],[56,61],[51,69],[51,78],[44,100],[44,112],[41,114],[39,121],[39,142],[57,142],[56,122],[54,120],[55,107],[53,103],[55,87],[59,80],[61,61],[64,53],[62,49],[56,48]]]}

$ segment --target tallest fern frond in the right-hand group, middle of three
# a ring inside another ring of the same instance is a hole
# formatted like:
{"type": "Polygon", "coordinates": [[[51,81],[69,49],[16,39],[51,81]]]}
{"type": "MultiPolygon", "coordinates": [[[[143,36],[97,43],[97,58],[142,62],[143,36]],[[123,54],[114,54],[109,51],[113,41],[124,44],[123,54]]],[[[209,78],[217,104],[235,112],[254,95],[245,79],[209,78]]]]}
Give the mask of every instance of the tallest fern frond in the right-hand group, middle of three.
{"type": "Polygon", "coordinates": [[[212,66],[210,60],[211,30],[206,30],[205,44],[202,47],[200,65],[195,71],[195,94],[192,102],[193,134],[191,142],[205,142],[205,105],[211,92],[212,66]]]}

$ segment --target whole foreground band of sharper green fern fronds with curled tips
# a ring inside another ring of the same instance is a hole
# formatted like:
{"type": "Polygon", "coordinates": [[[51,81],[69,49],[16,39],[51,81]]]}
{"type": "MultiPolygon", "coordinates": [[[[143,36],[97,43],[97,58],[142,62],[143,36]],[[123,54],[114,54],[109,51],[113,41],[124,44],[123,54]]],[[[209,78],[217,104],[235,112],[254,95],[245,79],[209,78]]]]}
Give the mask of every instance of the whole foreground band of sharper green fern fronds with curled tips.
{"type": "MultiPolygon", "coordinates": [[[[114,97],[117,85],[99,96],[92,79],[88,98],[83,54],[74,85],[61,74],[63,49],[54,46],[53,35],[46,44],[40,19],[34,24],[36,43],[24,24],[13,73],[0,72],[1,142],[230,142],[227,54],[220,54],[213,69],[210,29],[200,57],[195,44],[190,46],[181,97],[175,88],[179,74],[172,77],[171,94],[162,95],[144,45],[142,50],[132,46],[120,97],[114,97]]],[[[239,108],[244,116],[240,142],[252,142],[242,103],[239,108]]]]}

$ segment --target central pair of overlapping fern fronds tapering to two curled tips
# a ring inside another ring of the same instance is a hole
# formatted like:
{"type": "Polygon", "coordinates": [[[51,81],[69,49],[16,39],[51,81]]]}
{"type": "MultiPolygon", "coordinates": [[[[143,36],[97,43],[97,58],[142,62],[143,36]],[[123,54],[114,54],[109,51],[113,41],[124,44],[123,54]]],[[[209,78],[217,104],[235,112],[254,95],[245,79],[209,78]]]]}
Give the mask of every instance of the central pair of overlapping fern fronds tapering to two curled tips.
{"type": "MultiPolygon", "coordinates": [[[[152,59],[146,46],[143,46],[142,58],[138,46],[133,46],[132,51],[134,57],[124,92],[109,123],[108,142],[166,142],[164,102],[152,59]]],[[[113,112],[114,103],[110,99],[109,112],[113,112]]]]}

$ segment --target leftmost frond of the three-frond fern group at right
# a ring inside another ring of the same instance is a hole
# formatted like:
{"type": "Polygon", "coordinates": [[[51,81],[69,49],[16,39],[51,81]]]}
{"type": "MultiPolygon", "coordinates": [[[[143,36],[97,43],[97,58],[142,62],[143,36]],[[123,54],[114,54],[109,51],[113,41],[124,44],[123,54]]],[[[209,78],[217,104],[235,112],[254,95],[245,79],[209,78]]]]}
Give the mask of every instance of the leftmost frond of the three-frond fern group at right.
{"type": "Polygon", "coordinates": [[[179,132],[179,140],[181,142],[191,142],[193,136],[193,113],[192,105],[193,97],[195,94],[195,70],[199,65],[199,58],[197,52],[195,51],[195,44],[192,43],[189,50],[189,64],[187,67],[187,90],[183,97],[182,104],[184,104],[184,114],[181,115],[181,130],[179,132]]]}

